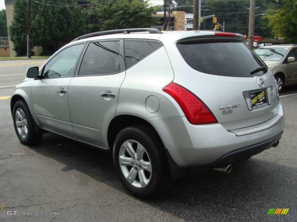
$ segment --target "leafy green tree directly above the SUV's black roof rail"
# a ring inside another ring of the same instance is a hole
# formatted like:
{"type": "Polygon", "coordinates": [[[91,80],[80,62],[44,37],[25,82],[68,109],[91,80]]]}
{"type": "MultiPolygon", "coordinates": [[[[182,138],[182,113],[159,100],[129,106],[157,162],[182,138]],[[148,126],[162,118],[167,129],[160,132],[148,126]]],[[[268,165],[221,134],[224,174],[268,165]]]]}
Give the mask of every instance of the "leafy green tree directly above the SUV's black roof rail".
{"type": "Polygon", "coordinates": [[[147,28],[159,23],[151,17],[155,12],[155,7],[149,7],[147,2],[139,0],[115,0],[96,4],[88,9],[88,17],[91,20],[89,31],[147,28]]]}

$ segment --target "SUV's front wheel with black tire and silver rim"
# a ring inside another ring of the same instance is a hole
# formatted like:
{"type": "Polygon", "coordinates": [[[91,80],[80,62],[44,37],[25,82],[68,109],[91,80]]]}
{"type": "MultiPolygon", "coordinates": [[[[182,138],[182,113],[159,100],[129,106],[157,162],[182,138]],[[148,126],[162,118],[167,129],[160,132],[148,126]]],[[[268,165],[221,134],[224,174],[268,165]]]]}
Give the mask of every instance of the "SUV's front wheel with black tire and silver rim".
{"type": "Polygon", "coordinates": [[[42,139],[42,133],[37,131],[29,108],[23,100],[15,103],[12,118],[15,132],[23,144],[35,145],[42,139]]]}

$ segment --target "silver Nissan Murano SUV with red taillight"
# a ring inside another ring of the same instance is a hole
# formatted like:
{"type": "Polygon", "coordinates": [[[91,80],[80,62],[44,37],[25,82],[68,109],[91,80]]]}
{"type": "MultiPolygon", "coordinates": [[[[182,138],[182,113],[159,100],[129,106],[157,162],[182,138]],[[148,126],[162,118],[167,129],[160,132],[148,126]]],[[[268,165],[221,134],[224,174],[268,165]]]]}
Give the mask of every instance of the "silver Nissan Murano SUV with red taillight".
{"type": "Polygon", "coordinates": [[[277,146],[284,113],[268,67],[244,37],[215,31],[91,33],[32,67],[13,92],[16,134],[53,132],[108,150],[141,198],[191,167],[230,172],[277,146]]]}

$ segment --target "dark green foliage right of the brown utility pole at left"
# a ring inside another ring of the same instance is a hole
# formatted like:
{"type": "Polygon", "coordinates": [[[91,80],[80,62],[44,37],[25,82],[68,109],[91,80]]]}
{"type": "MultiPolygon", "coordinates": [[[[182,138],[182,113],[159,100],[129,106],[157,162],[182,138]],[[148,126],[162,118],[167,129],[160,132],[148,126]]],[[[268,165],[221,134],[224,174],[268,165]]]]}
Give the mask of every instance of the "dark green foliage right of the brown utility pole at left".
{"type": "MultiPolygon", "coordinates": [[[[73,0],[51,4],[74,4],[73,0]]],[[[32,44],[41,45],[43,54],[52,54],[65,43],[86,33],[83,7],[61,7],[32,2],[32,44]]]]}

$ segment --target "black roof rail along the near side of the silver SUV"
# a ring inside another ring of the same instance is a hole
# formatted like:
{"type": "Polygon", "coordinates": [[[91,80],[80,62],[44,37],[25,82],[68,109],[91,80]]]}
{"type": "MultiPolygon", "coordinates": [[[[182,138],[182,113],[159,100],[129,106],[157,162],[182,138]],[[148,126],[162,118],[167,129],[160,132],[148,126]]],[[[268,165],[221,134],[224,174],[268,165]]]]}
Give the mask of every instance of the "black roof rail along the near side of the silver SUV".
{"type": "Polygon", "coordinates": [[[129,34],[130,32],[149,32],[153,34],[162,33],[160,30],[156,28],[126,28],[126,29],[116,29],[116,30],[89,33],[83,36],[79,36],[78,38],[73,39],[71,42],[74,42],[83,38],[94,37],[94,36],[103,36],[103,35],[110,35],[110,34],[116,34],[116,33],[129,34]]]}

